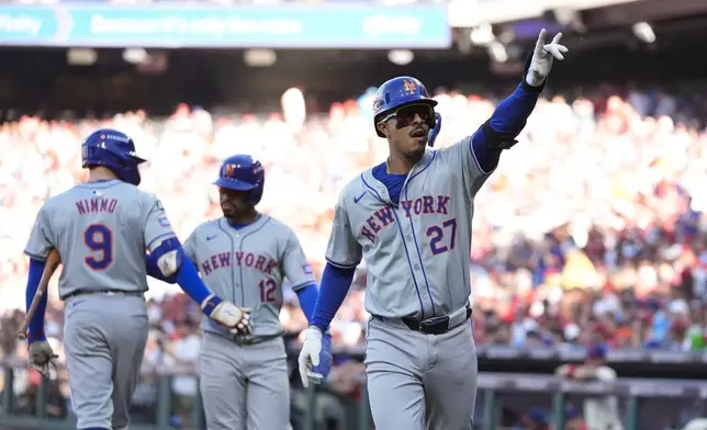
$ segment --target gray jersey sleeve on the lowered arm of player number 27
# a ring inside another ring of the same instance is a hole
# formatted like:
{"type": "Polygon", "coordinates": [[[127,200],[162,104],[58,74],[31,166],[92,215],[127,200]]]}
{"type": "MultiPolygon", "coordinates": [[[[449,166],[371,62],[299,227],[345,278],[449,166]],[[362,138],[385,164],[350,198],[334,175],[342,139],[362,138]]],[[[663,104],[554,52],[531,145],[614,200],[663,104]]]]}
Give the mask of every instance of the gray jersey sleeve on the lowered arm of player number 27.
{"type": "Polygon", "coordinates": [[[337,268],[354,269],[361,262],[363,249],[351,230],[345,200],[347,190],[348,188],[344,189],[334,207],[334,223],[326,248],[326,261],[337,268]]]}

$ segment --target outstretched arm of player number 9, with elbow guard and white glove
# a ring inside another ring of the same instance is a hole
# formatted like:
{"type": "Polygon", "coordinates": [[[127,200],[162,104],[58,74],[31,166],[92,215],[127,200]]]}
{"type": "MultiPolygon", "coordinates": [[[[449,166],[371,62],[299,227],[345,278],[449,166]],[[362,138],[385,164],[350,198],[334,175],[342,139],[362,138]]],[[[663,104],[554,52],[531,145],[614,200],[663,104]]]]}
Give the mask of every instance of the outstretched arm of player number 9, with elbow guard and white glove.
{"type": "Polygon", "coordinates": [[[146,264],[157,267],[156,270],[150,269],[155,272],[153,275],[166,282],[173,279],[187,295],[200,304],[207,317],[238,332],[249,333],[251,331],[250,310],[225,302],[209,290],[199,276],[193,262],[184,254],[161,202],[152,194],[144,195],[146,196],[144,239],[150,259],[154,260],[152,263],[147,260],[146,264]]]}

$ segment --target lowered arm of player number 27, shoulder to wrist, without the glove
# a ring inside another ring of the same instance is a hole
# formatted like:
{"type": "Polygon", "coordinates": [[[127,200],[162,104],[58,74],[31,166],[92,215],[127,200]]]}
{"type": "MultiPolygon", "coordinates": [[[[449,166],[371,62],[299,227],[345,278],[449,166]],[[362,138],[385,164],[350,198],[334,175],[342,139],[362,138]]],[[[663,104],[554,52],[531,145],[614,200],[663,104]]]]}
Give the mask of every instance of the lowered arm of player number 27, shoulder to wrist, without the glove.
{"type": "Polygon", "coordinates": [[[361,262],[362,248],[356,240],[346,208],[348,186],[334,208],[332,236],[326,251],[319,295],[314,305],[311,326],[325,332],[351,287],[356,267],[361,262]]]}

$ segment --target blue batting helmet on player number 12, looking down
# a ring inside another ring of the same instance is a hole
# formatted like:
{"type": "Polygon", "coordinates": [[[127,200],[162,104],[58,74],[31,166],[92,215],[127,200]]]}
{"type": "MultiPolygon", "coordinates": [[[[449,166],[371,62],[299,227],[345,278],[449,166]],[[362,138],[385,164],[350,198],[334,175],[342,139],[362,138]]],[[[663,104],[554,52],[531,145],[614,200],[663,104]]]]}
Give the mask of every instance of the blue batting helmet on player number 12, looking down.
{"type": "Polygon", "coordinates": [[[262,199],[265,186],[265,169],[260,161],[255,158],[237,154],[226,158],[218,170],[218,179],[214,181],[228,190],[246,191],[252,205],[258,204],[262,199]]]}

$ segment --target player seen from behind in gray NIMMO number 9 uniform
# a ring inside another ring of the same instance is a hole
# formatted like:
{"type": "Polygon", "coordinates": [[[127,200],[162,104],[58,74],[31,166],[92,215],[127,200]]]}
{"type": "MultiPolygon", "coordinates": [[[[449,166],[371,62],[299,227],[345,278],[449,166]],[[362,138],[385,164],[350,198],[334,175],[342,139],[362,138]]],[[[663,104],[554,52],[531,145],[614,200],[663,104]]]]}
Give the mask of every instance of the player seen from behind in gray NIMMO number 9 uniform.
{"type": "MultiPolygon", "coordinates": [[[[212,294],[184,256],[165,210],[137,189],[133,139],[99,129],[82,145],[88,182],[49,199],[40,210],[24,252],[30,257],[27,308],[50,249],[61,256],[59,297],[65,304],[71,405],[79,430],[120,430],[137,382],[148,321],[145,250],[216,324],[250,332],[249,312],[212,294]]],[[[44,336],[46,295],[30,321],[30,364],[47,374],[56,357],[44,336]]]]}

